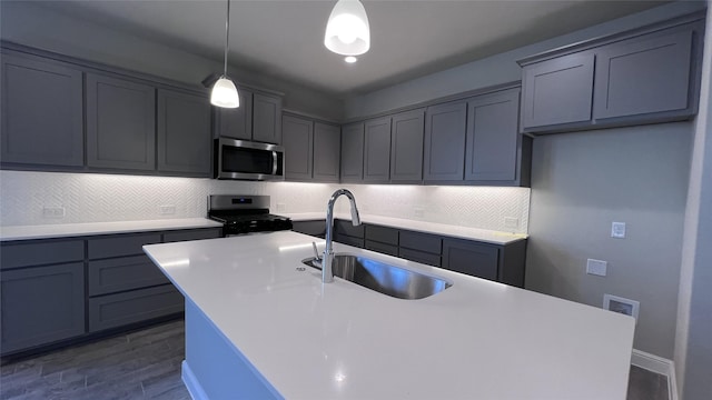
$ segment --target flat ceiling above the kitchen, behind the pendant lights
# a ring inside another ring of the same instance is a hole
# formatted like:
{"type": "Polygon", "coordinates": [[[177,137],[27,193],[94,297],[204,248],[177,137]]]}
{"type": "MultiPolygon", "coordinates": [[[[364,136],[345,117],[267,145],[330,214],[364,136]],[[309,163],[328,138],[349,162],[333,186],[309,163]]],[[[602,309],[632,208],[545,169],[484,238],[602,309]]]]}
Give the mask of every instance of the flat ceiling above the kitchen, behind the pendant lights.
{"type": "MultiPolygon", "coordinates": [[[[372,47],[356,63],[347,64],[323,44],[326,20],[335,2],[233,0],[230,64],[344,98],[663,3],[363,0],[372,47]]],[[[226,1],[56,0],[43,6],[210,59],[222,59],[226,1]]]]}

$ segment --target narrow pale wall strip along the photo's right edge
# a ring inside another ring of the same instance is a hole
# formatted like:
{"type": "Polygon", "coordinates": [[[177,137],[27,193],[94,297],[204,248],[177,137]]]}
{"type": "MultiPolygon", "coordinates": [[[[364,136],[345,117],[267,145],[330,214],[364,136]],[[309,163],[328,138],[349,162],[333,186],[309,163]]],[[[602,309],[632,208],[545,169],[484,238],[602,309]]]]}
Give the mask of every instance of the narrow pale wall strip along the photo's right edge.
{"type": "Polygon", "coordinates": [[[685,211],[675,372],[681,399],[712,396],[712,8],[685,211]]]}

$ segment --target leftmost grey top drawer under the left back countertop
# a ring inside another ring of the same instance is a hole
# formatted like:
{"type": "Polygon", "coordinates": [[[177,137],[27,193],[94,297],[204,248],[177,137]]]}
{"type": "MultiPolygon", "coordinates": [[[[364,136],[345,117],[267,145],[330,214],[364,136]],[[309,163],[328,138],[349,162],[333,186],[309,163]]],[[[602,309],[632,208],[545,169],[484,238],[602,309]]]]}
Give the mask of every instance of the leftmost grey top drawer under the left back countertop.
{"type": "Polygon", "coordinates": [[[0,269],[42,266],[85,259],[83,240],[22,241],[0,248],[0,269]]]}

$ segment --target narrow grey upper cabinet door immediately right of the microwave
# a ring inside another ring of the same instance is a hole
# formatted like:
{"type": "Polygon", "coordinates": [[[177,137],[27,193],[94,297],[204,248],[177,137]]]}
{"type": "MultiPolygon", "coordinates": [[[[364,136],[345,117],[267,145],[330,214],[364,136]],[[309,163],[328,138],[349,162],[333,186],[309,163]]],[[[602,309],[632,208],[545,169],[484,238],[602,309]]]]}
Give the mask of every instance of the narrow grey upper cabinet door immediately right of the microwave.
{"type": "Polygon", "coordinates": [[[291,117],[281,117],[283,146],[285,147],[285,179],[312,180],[314,149],[314,122],[291,117]]]}

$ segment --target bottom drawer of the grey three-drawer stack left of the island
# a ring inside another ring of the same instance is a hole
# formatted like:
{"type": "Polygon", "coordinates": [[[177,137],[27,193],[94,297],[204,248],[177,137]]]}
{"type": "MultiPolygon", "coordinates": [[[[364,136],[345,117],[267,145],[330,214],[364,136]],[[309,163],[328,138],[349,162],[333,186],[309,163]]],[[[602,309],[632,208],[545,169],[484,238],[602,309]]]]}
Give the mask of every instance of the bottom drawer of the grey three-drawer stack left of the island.
{"type": "Polygon", "coordinates": [[[184,298],[172,284],[89,299],[89,331],[148,321],[184,310],[184,298]]]}

